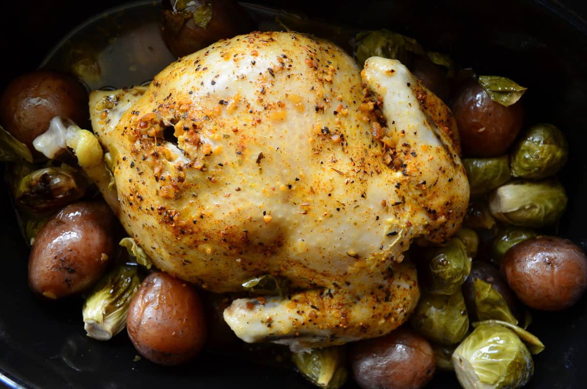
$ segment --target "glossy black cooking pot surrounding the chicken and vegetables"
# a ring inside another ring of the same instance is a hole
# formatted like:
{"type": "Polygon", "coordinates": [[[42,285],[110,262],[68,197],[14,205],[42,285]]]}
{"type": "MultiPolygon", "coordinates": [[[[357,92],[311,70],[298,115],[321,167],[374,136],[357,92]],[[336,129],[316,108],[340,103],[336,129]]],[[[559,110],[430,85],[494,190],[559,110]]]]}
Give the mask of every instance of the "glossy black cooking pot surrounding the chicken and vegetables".
{"type": "MultiPolygon", "coordinates": [[[[38,66],[49,49],[79,22],[116,1],[5,2],[0,11],[0,88],[38,66]]],[[[569,205],[558,233],[587,242],[587,3],[582,1],[349,1],[262,4],[301,10],[359,28],[388,28],[481,73],[510,76],[529,86],[527,122],[552,122],[564,130],[571,159],[561,180],[569,205]],[[567,8],[567,6],[571,8],[567,8]],[[572,11],[572,10],[574,11],[572,11]]],[[[2,169],[4,170],[4,169],[2,169]]],[[[3,180],[2,180],[3,182],[3,180]]],[[[311,387],[297,373],[251,358],[206,353],[184,368],[164,368],[136,355],[125,334],[100,343],[85,337],[80,301],[47,304],[26,285],[28,247],[17,227],[7,190],[0,187],[0,374],[25,387],[118,388],[311,387]]],[[[586,299],[563,313],[533,313],[530,328],[546,344],[535,357],[531,388],[586,387],[586,299]]],[[[0,379],[1,381],[1,379],[0,379]]],[[[1,386],[2,384],[0,384],[1,386]]],[[[437,374],[430,388],[458,387],[437,374]]]]}

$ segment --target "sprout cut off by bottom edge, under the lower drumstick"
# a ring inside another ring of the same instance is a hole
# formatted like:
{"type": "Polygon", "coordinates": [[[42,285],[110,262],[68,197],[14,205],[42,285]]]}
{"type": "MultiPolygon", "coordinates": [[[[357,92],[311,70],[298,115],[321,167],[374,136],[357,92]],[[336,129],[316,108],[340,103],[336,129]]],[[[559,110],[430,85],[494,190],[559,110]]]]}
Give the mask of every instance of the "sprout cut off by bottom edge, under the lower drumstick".
{"type": "Polygon", "coordinates": [[[299,372],[312,384],[324,389],[338,389],[345,384],[345,350],[342,347],[321,348],[310,353],[293,353],[299,372]]]}

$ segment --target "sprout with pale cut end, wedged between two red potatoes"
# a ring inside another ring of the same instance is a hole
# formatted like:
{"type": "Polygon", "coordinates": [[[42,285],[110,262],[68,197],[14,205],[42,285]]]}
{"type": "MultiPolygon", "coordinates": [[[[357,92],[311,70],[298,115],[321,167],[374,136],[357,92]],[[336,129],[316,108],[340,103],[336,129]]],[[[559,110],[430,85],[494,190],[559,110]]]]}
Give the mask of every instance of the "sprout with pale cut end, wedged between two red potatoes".
{"type": "Polygon", "coordinates": [[[109,340],[126,326],[126,314],[141,280],[136,266],[119,266],[106,274],[83,304],[87,336],[109,340]]]}

